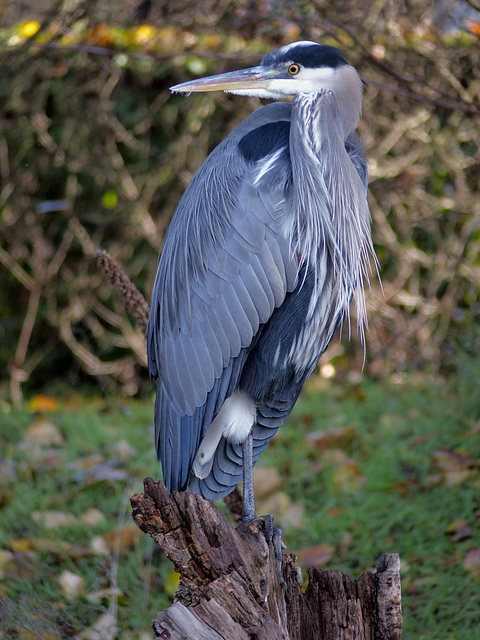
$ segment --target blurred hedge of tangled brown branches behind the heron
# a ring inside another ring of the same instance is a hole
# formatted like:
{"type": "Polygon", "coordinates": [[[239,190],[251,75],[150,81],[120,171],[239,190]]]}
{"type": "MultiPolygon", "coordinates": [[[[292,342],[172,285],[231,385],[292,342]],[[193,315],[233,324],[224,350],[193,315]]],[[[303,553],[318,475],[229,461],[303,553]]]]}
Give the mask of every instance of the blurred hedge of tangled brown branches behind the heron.
{"type": "MultiPolygon", "coordinates": [[[[368,295],[367,369],[438,373],[478,351],[479,36],[456,3],[59,2],[29,21],[22,7],[7,3],[0,31],[0,376],[13,399],[85,373],[128,394],[149,384],[143,336],[93,252],[148,298],[185,186],[260,105],[168,87],[296,39],[340,46],[367,82],[383,281],[368,295]]],[[[345,351],[361,368],[355,341],[330,354],[341,365],[345,351]]]]}

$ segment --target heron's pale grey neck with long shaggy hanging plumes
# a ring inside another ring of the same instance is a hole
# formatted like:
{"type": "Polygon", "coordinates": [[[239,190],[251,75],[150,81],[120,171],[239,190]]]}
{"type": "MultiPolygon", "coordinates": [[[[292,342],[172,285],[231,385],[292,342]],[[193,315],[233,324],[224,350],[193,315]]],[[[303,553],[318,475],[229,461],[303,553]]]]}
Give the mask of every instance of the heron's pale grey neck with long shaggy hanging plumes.
{"type": "MultiPolygon", "coordinates": [[[[296,228],[292,237],[306,268],[317,268],[322,260],[331,263],[338,304],[348,310],[355,295],[363,335],[363,281],[368,277],[369,255],[373,253],[370,212],[367,186],[345,146],[360,117],[362,87],[353,67],[345,65],[342,72],[346,79],[340,83],[342,88],[335,83],[331,89],[294,99],[290,196],[296,228]]],[[[363,158],[354,135],[347,146],[353,146],[357,156],[363,158]]]]}

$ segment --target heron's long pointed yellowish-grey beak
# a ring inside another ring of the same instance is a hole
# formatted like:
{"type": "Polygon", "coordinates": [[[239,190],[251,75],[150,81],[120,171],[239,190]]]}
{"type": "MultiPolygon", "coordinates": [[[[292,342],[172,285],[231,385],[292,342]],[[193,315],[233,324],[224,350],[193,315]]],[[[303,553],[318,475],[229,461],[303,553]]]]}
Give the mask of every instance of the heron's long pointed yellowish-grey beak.
{"type": "Polygon", "coordinates": [[[199,78],[190,82],[182,82],[170,87],[174,93],[191,93],[196,91],[238,91],[249,89],[266,89],[270,80],[277,77],[275,70],[269,67],[251,67],[241,71],[219,73],[216,76],[199,78]]]}

